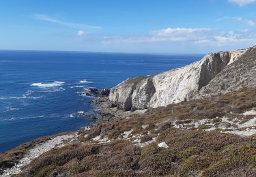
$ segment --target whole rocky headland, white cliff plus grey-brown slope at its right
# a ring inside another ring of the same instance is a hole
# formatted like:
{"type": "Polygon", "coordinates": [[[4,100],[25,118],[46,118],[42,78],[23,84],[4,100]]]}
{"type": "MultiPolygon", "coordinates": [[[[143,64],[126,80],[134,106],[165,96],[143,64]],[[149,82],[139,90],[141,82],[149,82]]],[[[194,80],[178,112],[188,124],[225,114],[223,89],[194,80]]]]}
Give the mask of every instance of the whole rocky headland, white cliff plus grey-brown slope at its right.
{"type": "MultiPolygon", "coordinates": [[[[157,108],[171,103],[216,95],[217,93],[236,91],[242,86],[251,86],[251,84],[249,84],[249,80],[247,82],[238,80],[233,83],[229,69],[232,69],[232,76],[236,76],[236,68],[244,63],[239,70],[239,77],[246,78],[247,75],[244,75],[244,70],[248,69],[246,70],[248,74],[255,66],[253,63],[255,62],[255,51],[256,48],[254,47],[210,53],[200,61],[185,67],[154,76],[130,78],[111,88],[109,99],[117,108],[128,111],[157,108]],[[251,61],[247,61],[248,58],[251,61]],[[251,62],[249,64],[251,67],[247,68],[246,63],[249,62],[251,62]],[[225,78],[229,80],[230,84],[225,84],[225,78]],[[225,84],[224,87],[223,84],[225,84]],[[215,87],[218,87],[217,91],[215,87]]],[[[236,78],[238,79],[238,77],[236,78]]],[[[251,78],[253,79],[253,77],[251,78]]]]}

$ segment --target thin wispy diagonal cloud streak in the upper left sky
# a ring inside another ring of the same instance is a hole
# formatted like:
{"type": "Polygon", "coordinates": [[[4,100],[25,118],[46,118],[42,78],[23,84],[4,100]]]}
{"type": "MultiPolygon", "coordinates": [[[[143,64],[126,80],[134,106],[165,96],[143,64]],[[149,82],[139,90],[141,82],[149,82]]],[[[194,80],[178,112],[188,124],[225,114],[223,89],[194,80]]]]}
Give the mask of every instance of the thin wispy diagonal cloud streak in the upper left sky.
{"type": "Polygon", "coordinates": [[[54,23],[57,23],[59,25],[63,25],[63,26],[71,27],[71,28],[75,28],[75,29],[101,29],[102,28],[102,27],[84,25],[84,24],[73,23],[73,22],[63,22],[61,20],[51,18],[51,17],[46,16],[44,14],[34,14],[34,18],[36,18],[38,20],[43,20],[43,21],[46,21],[46,22],[54,22],[54,23]]]}

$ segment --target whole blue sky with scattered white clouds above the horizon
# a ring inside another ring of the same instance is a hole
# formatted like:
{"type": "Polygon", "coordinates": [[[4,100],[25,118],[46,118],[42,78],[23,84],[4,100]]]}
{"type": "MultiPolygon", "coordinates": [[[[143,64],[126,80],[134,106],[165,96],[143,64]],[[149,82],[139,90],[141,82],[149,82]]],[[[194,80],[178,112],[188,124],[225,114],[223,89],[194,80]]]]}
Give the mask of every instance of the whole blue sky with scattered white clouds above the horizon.
{"type": "Polygon", "coordinates": [[[256,0],[1,0],[0,49],[208,53],[256,45],[256,0]]]}

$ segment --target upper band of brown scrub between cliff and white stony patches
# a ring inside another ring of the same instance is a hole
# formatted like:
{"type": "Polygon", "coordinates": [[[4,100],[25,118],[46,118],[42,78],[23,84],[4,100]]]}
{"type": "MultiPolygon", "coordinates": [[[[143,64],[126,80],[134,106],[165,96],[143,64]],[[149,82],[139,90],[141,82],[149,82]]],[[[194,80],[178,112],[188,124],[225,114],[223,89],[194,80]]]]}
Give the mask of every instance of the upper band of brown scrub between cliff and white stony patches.
{"type": "MultiPolygon", "coordinates": [[[[145,134],[150,131],[153,136],[173,127],[173,123],[191,123],[193,120],[212,119],[210,122],[218,123],[218,117],[241,116],[246,110],[256,107],[256,88],[244,88],[241,91],[228,93],[218,97],[208,99],[197,99],[193,101],[171,104],[167,107],[148,110],[145,114],[132,115],[130,118],[120,118],[117,120],[100,122],[91,131],[81,131],[83,135],[88,134],[85,140],[106,132],[111,140],[117,139],[124,131],[133,129],[132,135],[145,134]],[[232,114],[230,114],[232,112],[232,114]],[[142,125],[149,125],[143,129],[142,125]]],[[[252,116],[241,116],[246,121],[252,116]]],[[[200,126],[199,129],[208,129],[209,126],[200,126]]],[[[83,139],[81,135],[81,141],[83,139]]],[[[83,141],[85,141],[83,140],[83,141]]]]}

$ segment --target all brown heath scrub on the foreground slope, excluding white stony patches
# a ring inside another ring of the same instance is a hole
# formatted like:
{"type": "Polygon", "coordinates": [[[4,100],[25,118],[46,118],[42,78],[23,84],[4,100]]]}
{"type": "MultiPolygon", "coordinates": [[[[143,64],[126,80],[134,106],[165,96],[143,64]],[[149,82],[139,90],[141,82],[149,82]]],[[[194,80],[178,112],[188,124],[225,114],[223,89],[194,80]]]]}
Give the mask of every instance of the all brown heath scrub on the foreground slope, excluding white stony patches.
{"type": "Polygon", "coordinates": [[[255,106],[256,88],[244,88],[148,110],[143,115],[102,121],[91,130],[79,131],[79,141],[87,144],[46,152],[19,176],[255,176],[256,136],[203,131],[205,127],[173,128],[173,122],[179,125],[204,118],[219,123],[217,117],[240,114],[255,106]],[[142,125],[148,126],[143,129],[142,125]],[[130,140],[119,140],[131,129],[128,137],[143,135],[141,142],[157,137],[156,143],[139,148],[130,140]],[[91,140],[98,135],[106,135],[111,142],[97,144],[91,140]],[[160,142],[169,148],[158,148],[160,142]]]}

